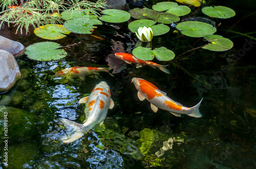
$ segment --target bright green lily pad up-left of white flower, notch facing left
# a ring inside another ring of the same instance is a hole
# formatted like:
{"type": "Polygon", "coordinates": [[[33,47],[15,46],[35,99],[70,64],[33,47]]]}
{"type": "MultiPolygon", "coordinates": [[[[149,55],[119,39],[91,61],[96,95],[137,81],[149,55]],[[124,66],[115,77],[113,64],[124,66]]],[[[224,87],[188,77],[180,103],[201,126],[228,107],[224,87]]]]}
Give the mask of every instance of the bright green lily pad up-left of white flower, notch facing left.
{"type": "Polygon", "coordinates": [[[103,15],[99,17],[99,19],[111,23],[125,22],[131,18],[131,15],[128,12],[118,9],[105,9],[102,14],[103,15]]]}

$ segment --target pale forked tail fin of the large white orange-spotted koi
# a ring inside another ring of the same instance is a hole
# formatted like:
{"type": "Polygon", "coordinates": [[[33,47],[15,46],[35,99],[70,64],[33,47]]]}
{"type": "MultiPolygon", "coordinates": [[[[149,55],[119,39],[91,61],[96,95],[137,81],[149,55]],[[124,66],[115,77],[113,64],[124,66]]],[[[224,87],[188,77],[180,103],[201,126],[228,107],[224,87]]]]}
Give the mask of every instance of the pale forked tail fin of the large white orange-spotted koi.
{"type": "Polygon", "coordinates": [[[84,133],[90,130],[90,128],[88,129],[88,127],[85,127],[82,124],[72,122],[71,120],[68,120],[68,119],[60,118],[58,120],[62,122],[63,125],[66,127],[67,135],[62,136],[60,138],[62,143],[72,143],[75,140],[81,138],[84,133]]]}

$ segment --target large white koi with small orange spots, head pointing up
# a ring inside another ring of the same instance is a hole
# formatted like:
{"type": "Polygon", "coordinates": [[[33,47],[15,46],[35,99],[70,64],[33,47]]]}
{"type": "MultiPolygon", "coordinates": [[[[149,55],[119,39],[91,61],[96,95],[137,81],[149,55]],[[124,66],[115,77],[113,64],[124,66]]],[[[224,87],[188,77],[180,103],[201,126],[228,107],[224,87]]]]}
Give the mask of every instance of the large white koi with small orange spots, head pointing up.
{"type": "Polygon", "coordinates": [[[58,120],[62,122],[70,132],[70,134],[61,138],[62,143],[72,143],[81,138],[83,134],[90,131],[96,124],[102,125],[106,114],[108,113],[108,109],[114,107],[114,102],[110,96],[110,87],[105,81],[101,81],[92,90],[90,96],[83,97],[79,100],[80,104],[86,104],[86,108],[84,109],[86,121],[84,121],[83,124],[59,118],[58,120]]]}

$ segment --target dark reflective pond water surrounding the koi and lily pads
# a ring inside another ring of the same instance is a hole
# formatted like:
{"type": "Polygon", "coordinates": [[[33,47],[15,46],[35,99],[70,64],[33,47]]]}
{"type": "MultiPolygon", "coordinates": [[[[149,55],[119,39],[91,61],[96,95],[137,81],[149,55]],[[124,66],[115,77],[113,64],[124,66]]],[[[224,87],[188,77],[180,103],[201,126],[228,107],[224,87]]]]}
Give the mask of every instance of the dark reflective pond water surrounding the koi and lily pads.
{"type": "MultiPolygon", "coordinates": [[[[152,7],[158,2],[146,4],[152,7]]],[[[23,55],[17,60],[22,79],[0,98],[0,168],[5,168],[4,112],[8,112],[8,168],[256,168],[256,35],[251,26],[256,4],[241,3],[209,4],[236,11],[233,18],[212,19],[221,23],[216,34],[234,43],[228,51],[197,49],[178,56],[205,41],[179,37],[172,27],[167,34],[154,37],[154,48],[164,46],[176,53],[171,62],[154,60],[169,64],[170,74],[152,67],[136,68],[115,57],[116,52],[131,53],[138,41],[127,29],[129,21],[99,25],[93,35],[104,40],[70,34],[54,41],[62,46],[81,42],[65,47],[68,56],[59,61],[38,62],[23,55]],[[54,78],[57,71],[68,67],[108,65],[122,70],[116,69],[114,77],[104,72],[84,81],[54,78]],[[187,107],[203,97],[202,117],[175,117],[161,109],[154,113],[148,101],[138,99],[133,77],[152,82],[187,107]],[[57,119],[82,123],[84,105],[78,101],[100,81],[108,83],[115,103],[103,125],[74,143],[58,142],[55,138],[63,134],[63,128],[57,119]]],[[[130,3],[115,6],[124,11],[135,7],[130,3]]],[[[25,46],[47,41],[33,31],[28,35],[14,31],[5,27],[0,35],[25,46]]]]}

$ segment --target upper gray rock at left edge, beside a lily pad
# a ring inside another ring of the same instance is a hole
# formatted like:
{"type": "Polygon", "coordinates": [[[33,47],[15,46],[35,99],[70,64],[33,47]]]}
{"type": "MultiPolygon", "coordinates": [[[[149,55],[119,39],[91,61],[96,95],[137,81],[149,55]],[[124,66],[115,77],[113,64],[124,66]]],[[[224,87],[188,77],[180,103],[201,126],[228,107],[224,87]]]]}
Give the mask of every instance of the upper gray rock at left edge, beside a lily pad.
{"type": "Polygon", "coordinates": [[[15,58],[25,52],[25,46],[19,42],[0,36],[0,49],[9,51],[15,58]]]}

